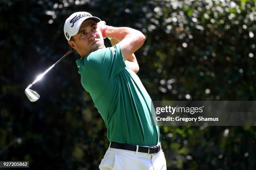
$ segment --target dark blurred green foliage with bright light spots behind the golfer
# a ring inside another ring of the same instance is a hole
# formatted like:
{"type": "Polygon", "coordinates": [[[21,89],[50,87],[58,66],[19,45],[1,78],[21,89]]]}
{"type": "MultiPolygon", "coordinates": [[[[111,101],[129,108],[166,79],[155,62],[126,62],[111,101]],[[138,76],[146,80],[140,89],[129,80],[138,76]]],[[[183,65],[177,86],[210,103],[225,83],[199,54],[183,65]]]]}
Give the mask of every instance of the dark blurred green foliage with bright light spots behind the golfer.
{"type": "MultiPolygon", "coordinates": [[[[97,169],[105,123],[80,85],[66,18],[87,11],[141,30],[139,77],[152,100],[256,100],[256,0],[0,0],[0,160],[31,169],[97,169]]],[[[106,45],[110,43],[106,40],[106,45]]],[[[161,127],[168,169],[253,170],[255,127],[161,127]]]]}

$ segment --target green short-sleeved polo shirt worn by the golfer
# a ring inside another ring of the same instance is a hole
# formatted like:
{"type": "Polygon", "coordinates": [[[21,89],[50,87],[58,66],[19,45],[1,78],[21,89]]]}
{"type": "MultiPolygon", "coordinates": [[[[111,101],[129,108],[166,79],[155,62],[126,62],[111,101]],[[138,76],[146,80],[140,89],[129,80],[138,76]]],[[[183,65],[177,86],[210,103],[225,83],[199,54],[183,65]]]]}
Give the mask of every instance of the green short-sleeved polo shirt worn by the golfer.
{"type": "Polygon", "coordinates": [[[139,77],[125,65],[120,46],[91,52],[76,62],[82,86],[108,129],[108,140],[156,145],[159,127],[151,123],[151,98],[139,77]]]}

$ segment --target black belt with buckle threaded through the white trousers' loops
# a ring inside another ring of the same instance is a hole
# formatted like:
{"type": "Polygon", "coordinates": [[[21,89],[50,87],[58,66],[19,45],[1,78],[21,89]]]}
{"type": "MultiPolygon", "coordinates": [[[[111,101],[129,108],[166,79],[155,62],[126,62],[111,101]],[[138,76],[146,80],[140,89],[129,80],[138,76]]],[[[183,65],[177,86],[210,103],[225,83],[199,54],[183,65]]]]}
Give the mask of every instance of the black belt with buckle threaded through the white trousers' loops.
{"type": "MultiPolygon", "coordinates": [[[[111,142],[110,148],[136,151],[137,145],[111,142]]],[[[161,150],[161,145],[149,146],[149,147],[138,146],[138,152],[142,152],[142,153],[153,154],[153,153],[158,153],[160,150],[161,150]]]]}

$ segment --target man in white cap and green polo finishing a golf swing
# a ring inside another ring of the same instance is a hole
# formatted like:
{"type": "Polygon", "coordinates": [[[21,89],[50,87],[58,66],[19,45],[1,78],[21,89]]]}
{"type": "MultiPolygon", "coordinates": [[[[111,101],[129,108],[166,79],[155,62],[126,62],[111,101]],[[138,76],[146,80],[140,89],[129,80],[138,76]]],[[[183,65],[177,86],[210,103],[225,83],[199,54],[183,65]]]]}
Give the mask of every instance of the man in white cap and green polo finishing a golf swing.
{"type": "Polygon", "coordinates": [[[81,56],[76,61],[81,84],[108,129],[110,145],[100,170],[165,170],[159,127],[151,123],[151,98],[136,75],[133,53],[145,36],[132,28],[105,25],[86,12],[67,18],[64,35],[81,56]],[[112,47],[105,47],[105,37],[112,47]]]}

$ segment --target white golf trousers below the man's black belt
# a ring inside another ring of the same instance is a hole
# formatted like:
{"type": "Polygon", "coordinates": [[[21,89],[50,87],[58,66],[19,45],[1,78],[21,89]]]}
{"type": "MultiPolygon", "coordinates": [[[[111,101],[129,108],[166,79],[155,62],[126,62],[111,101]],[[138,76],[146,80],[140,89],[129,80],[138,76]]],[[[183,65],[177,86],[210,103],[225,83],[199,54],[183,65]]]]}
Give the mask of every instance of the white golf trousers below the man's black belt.
{"type": "Polygon", "coordinates": [[[108,148],[100,170],[166,170],[164,152],[155,154],[108,148]]]}

